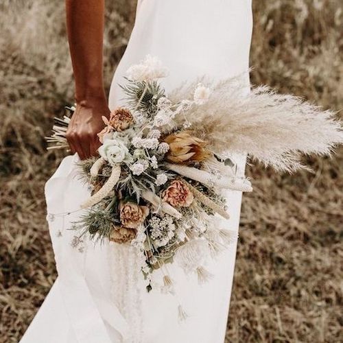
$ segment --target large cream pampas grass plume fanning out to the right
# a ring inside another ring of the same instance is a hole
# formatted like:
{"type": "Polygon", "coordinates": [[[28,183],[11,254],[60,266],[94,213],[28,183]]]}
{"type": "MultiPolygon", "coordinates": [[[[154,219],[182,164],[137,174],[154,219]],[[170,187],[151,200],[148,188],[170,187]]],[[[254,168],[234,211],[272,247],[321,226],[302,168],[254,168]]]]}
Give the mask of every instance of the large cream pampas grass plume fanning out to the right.
{"type": "MultiPolygon", "coordinates": [[[[169,98],[191,98],[196,84],[178,88],[169,98]]],[[[206,104],[191,106],[174,123],[180,127],[187,117],[193,133],[218,154],[248,153],[276,171],[292,172],[305,167],[302,154],[329,155],[343,143],[342,123],[334,115],[267,86],[250,91],[237,77],[215,84],[206,104]]]]}

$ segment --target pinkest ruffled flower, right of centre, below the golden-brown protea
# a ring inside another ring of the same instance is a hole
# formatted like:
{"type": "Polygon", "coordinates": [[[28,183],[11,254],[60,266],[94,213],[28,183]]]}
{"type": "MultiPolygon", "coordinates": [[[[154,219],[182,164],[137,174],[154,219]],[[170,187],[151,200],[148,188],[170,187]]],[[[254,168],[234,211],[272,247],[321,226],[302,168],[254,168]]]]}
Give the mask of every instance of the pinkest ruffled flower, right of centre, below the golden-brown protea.
{"type": "Polygon", "coordinates": [[[188,207],[194,196],[189,187],[181,180],[174,180],[162,193],[163,201],[175,207],[188,207]]]}

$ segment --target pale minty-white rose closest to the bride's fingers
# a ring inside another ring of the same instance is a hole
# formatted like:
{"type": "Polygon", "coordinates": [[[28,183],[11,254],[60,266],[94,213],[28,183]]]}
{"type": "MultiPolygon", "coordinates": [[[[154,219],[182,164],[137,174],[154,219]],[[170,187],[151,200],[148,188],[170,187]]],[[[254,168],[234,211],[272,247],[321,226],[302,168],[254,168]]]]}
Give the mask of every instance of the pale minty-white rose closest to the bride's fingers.
{"type": "Polygon", "coordinates": [[[102,156],[110,165],[116,165],[124,161],[128,162],[131,160],[131,155],[126,145],[117,139],[106,139],[104,144],[99,147],[99,154],[102,156]]]}

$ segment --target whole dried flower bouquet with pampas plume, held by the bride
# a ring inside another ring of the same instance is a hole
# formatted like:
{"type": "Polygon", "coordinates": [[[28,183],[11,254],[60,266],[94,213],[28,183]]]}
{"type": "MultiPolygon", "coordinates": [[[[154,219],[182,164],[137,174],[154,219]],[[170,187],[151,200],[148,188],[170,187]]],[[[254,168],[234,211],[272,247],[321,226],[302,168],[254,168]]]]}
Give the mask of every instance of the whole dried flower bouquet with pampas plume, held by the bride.
{"type": "MultiPolygon", "coordinates": [[[[307,168],[301,154],[330,154],[342,143],[342,126],[331,111],[298,97],[266,86],[247,92],[239,77],[202,78],[169,94],[159,82],[165,77],[152,56],[128,69],[124,105],[103,117],[99,157],[80,162],[93,191],[76,227],[95,241],[136,247],[147,280],[178,263],[203,283],[211,277],[207,257],[237,239],[214,224],[229,217],[222,189],[252,191],[230,154],[292,172],[307,168]]],[[[49,138],[54,147],[68,147],[68,123],[67,116],[57,119],[49,138]]],[[[171,285],[167,274],[164,283],[171,285]]]]}

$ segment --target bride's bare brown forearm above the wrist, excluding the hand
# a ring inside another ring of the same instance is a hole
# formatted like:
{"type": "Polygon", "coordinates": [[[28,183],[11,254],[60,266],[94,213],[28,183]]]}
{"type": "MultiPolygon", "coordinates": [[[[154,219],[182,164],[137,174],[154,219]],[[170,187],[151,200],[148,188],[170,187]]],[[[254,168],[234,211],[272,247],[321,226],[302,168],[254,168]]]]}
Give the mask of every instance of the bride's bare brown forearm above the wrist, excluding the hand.
{"type": "Polygon", "coordinates": [[[104,0],[66,0],[66,10],[76,101],[103,101],[104,0]]]}

